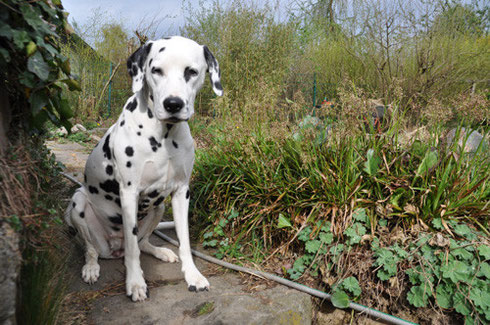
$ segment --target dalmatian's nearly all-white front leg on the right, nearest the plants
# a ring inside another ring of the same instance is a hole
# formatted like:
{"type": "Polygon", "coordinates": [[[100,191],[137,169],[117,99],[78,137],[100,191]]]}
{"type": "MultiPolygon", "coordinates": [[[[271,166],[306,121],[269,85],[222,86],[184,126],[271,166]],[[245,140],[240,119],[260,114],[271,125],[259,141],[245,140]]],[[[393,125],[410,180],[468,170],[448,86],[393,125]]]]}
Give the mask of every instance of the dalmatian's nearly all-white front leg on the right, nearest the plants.
{"type": "Polygon", "coordinates": [[[172,210],[175,230],[179,238],[179,255],[182,261],[182,272],[189,291],[209,290],[209,282],[194,265],[189,241],[189,187],[182,186],[172,194],[172,210]]]}

